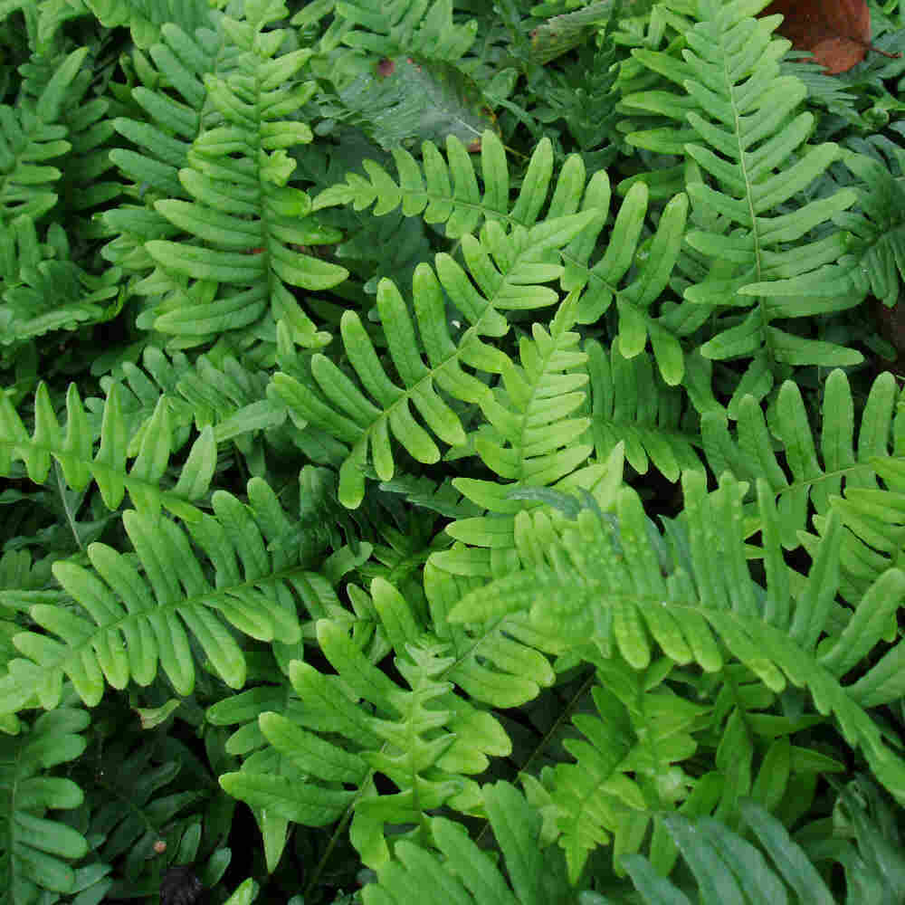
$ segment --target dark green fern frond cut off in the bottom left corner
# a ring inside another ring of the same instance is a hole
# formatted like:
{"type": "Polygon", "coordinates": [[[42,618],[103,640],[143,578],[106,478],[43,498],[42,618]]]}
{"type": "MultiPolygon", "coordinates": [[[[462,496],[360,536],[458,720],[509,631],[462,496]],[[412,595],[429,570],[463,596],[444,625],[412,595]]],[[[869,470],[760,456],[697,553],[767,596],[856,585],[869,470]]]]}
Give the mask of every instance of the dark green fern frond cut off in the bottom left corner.
{"type": "Polygon", "coordinates": [[[0,886],[10,905],[33,905],[43,894],[66,893],[76,882],[71,862],[88,852],[85,837],[47,811],[81,805],[79,786],[49,770],[81,756],[85,710],[43,713],[18,736],[0,735],[0,886]]]}

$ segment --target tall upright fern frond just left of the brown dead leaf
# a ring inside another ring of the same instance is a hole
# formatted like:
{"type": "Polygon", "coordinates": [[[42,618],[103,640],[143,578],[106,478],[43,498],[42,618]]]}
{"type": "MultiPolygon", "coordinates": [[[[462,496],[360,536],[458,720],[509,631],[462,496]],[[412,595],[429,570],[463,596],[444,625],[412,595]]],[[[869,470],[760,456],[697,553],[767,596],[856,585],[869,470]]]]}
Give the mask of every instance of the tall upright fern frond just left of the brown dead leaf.
{"type": "Polygon", "coordinates": [[[730,308],[719,317],[716,335],[701,348],[703,355],[752,356],[757,373],[783,363],[856,364],[862,357],[853,349],[772,326],[779,319],[851,308],[862,294],[846,285],[831,289],[823,280],[824,265],[838,262],[849,250],[842,231],[787,247],[830,224],[857,195],[842,189],[798,205],[792,213],[783,211],[782,205],[811,186],[840,152],[833,144],[807,144],[814,117],[795,114],[805,100],[805,86],[795,77],[779,76],[777,61],[788,43],[772,37],[778,17],[750,17],[762,7],[759,0],[702,0],[700,21],[686,35],[690,50],[684,61],[667,52],[634,51],[636,60],[681,90],[628,95],[622,108],[652,110],[682,128],[633,133],[627,140],[683,154],[710,180],[699,176],[687,185],[694,205],[710,217],[710,224],[693,230],[687,241],[713,270],[708,279],[694,281],[684,296],[686,302],[718,311],[730,308]],[[786,299],[786,289],[777,287],[776,281],[791,278],[799,287],[812,286],[806,305],[800,291],[786,299]]]}

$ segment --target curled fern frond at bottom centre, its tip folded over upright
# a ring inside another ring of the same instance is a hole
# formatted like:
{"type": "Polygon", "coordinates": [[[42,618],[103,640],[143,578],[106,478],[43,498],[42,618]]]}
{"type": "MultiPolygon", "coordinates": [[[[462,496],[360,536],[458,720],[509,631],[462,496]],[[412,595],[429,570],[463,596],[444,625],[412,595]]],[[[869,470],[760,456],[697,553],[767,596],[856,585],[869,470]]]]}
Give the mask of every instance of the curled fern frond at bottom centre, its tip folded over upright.
{"type": "Polygon", "coordinates": [[[463,774],[487,766],[484,751],[507,753],[509,740],[490,714],[450,694],[449,682],[440,678],[452,665],[441,656],[443,645],[406,646],[395,661],[411,689],[403,691],[367,660],[344,625],[320,620],[317,630],[338,675],[292,662],[290,681],[304,708],[296,719],[266,712],[258,720],[271,746],[291,759],[305,782],[251,770],[224,774],[220,782],[230,795],[310,826],[332,824],[354,807],[350,838],[362,860],[377,867],[389,858],[385,824],[414,823],[405,835],[423,837],[426,811],[443,804],[479,806],[476,786],[463,774]],[[318,734],[328,731],[344,738],[343,747],[318,734]],[[399,791],[378,795],[374,771],[399,791]]]}

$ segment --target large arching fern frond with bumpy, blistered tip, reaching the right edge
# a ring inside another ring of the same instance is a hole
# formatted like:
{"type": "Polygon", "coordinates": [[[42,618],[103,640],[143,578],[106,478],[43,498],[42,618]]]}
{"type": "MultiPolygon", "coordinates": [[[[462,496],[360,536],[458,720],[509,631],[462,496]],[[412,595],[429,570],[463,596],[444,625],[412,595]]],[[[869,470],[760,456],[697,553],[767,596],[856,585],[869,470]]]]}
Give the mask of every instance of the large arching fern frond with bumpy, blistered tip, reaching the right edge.
{"type": "Polygon", "coordinates": [[[705,672],[724,668],[725,645],[767,689],[782,691],[787,681],[806,687],[816,710],[832,712],[843,736],[862,749],[883,785],[905,799],[905,761],[884,746],[880,729],[858,703],[858,692],[839,683],[851,663],[845,652],[861,656],[885,631],[889,611],[871,615],[877,601],[888,600],[891,606],[905,601],[905,573],[891,569],[881,576],[843,632],[834,632],[833,643],[818,652],[839,586],[838,517],[831,516],[814,565],[793,598],[772,494],[766,483],[758,483],[765,593],[748,573],[742,543],[746,488],[724,475],[719,491],[708,495],[704,481],[700,472],[682,476],[689,533],[680,541],[671,530],[676,558],[666,568],[647,536],[633,491],[617,498],[615,524],[583,510],[576,522],[562,519],[557,529],[557,521],[543,511],[519,513],[516,539],[529,565],[466,595],[450,621],[493,622],[528,610],[538,631],[556,634],[564,643],[590,640],[604,656],[615,644],[636,670],[650,665],[652,640],[673,662],[697,662],[705,672]],[[538,538],[544,538],[542,544],[538,538]]]}

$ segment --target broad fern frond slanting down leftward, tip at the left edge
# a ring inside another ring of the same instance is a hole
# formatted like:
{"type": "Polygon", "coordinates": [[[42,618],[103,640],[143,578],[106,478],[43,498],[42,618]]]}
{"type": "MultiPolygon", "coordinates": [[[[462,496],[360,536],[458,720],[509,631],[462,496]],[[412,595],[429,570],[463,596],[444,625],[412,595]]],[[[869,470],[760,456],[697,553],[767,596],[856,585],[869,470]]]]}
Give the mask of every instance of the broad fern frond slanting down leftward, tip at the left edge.
{"type": "Polygon", "coordinates": [[[306,604],[316,600],[310,569],[300,563],[298,545],[268,552],[268,541],[288,534],[291,520],[265,481],[252,478],[248,492],[250,506],[216,491],[214,515],[188,523],[187,533],[162,515],[128,510],[123,524],[135,556],[95,543],[88,548],[90,569],[54,563],[53,575],[84,612],[32,606],[33,621],[47,633],[14,636],[29,659],[10,662],[0,681],[0,712],[20,710],[34,696],[44,708],[55,707],[63,675],[94,706],[107,684],[121,689],[129,679],[153,681],[158,663],[177,693],[189,694],[195,656],[186,627],[231,688],[243,686],[246,662],[225,623],[273,643],[277,653],[298,656],[294,645],[302,635],[293,592],[306,604]],[[210,564],[207,574],[190,540],[210,564]]]}

